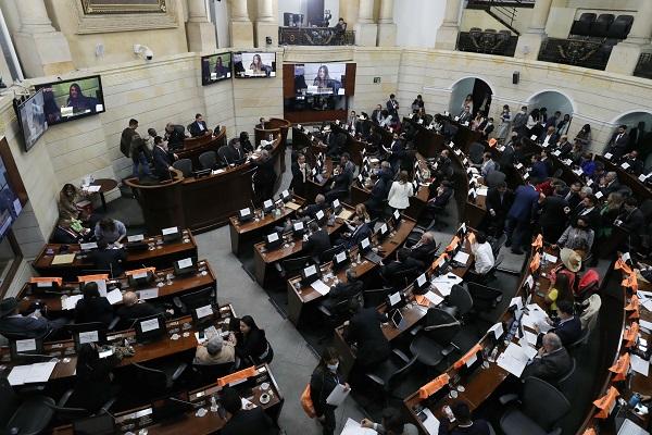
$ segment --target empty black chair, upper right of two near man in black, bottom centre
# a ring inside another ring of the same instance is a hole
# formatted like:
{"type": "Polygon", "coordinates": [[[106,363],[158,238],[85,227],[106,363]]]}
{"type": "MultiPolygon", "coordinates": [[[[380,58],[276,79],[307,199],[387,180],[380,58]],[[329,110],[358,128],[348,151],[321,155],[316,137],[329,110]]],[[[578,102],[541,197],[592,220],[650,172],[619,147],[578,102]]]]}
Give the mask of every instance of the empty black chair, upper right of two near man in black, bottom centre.
{"type": "Polygon", "coordinates": [[[461,323],[446,310],[430,308],[426,313],[425,326],[415,328],[416,337],[410,344],[410,351],[421,363],[429,368],[437,366],[454,350],[460,350],[452,339],[461,327],[461,323]]]}

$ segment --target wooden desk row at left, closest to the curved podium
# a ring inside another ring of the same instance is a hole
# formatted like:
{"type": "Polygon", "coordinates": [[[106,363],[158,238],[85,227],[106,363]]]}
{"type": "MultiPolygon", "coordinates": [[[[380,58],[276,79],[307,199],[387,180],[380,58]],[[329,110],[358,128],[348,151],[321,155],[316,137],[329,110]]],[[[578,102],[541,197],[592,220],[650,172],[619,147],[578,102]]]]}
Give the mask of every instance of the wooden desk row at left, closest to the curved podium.
{"type": "MultiPolygon", "coordinates": [[[[163,236],[161,235],[146,237],[143,241],[149,244],[149,249],[127,251],[125,270],[140,269],[143,264],[154,268],[168,268],[175,260],[197,257],[197,243],[189,229],[184,229],[181,238],[170,244],[163,243],[163,236]]],[[[74,281],[77,275],[80,275],[82,271],[95,269],[95,264],[84,253],[78,253],[80,250],[77,244],[47,244],[32,265],[41,276],[61,276],[64,281],[74,281]],[[54,256],[62,253],[60,252],[62,246],[68,247],[66,253],[75,253],[75,260],[68,264],[52,264],[54,256]]]]}

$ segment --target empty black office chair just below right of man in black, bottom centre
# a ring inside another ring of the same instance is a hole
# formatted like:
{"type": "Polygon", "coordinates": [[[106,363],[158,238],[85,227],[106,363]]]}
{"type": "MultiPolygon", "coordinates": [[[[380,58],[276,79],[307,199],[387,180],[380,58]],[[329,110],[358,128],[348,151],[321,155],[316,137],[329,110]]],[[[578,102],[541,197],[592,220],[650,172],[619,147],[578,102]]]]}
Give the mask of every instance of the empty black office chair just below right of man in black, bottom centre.
{"type": "Polygon", "coordinates": [[[375,364],[374,369],[366,372],[364,376],[383,391],[386,401],[390,398],[403,400],[411,391],[405,387],[401,388],[401,381],[410,373],[416,359],[416,357],[408,358],[399,349],[392,349],[387,360],[375,364]]]}

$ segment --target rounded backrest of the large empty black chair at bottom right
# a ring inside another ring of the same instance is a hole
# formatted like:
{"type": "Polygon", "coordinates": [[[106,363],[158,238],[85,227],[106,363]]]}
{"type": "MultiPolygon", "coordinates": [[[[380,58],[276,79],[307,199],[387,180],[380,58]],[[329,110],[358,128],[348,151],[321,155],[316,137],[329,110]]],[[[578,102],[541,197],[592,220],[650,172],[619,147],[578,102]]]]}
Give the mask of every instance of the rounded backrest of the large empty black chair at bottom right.
{"type": "Polygon", "coordinates": [[[538,377],[525,380],[522,402],[523,413],[547,432],[570,409],[562,391],[538,377]]]}

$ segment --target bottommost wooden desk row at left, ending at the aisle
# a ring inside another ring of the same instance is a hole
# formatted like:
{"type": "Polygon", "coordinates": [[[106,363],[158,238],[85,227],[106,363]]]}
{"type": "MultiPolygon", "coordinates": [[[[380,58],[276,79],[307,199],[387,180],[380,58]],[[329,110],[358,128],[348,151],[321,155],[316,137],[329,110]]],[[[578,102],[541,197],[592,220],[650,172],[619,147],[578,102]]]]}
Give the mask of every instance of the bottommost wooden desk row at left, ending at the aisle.
{"type": "MultiPolygon", "coordinates": [[[[249,401],[263,410],[274,420],[278,420],[285,398],[278,387],[276,378],[267,364],[256,366],[256,385],[251,389],[251,396],[247,397],[249,401]],[[269,384],[267,390],[263,390],[261,385],[269,384]],[[262,403],[260,398],[263,393],[271,395],[267,403],[262,403]]],[[[235,386],[238,389],[238,386],[235,386]]],[[[121,433],[130,431],[138,433],[140,430],[147,430],[148,434],[167,435],[167,434],[192,434],[209,435],[220,431],[226,424],[226,421],[217,412],[211,412],[211,397],[222,390],[217,384],[210,384],[204,387],[188,393],[188,399],[192,402],[193,409],[188,411],[185,417],[170,421],[154,423],[151,419],[151,407],[139,407],[115,415],[116,425],[121,433]],[[204,417],[196,417],[199,408],[209,411],[204,417]],[[145,414],[145,415],[143,415],[145,414]]],[[[220,405],[220,400],[217,400],[220,405]]],[[[55,427],[52,432],[55,435],[73,435],[72,425],[55,427]]]]}

